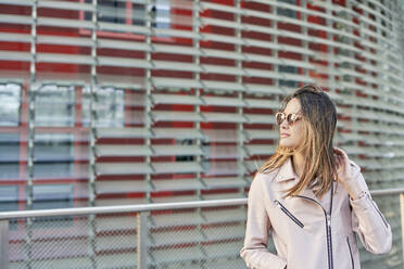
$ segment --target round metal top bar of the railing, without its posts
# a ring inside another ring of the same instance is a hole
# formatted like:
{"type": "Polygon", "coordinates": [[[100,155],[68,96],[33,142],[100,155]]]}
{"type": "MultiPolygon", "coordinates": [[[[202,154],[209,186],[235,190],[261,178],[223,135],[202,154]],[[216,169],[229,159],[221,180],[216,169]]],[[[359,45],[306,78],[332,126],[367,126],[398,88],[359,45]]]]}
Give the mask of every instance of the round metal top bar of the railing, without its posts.
{"type": "MultiPolygon", "coordinates": [[[[373,190],[373,196],[384,196],[389,194],[402,194],[404,188],[373,190]]],[[[176,203],[155,203],[141,205],[117,205],[117,206],[97,206],[97,207],[78,207],[78,208],[60,208],[60,209],[41,209],[41,210],[18,210],[0,213],[0,220],[14,218],[29,217],[54,217],[54,216],[79,216],[90,214],[112,214],[112,213],[141,213],[166,209],[186,209],[186,208],[203,208],[215,206],[235,206],[245,205],[247,198],[227,198],[227,200],[210,200],[210,201],[190,201],[176,203]]]]}

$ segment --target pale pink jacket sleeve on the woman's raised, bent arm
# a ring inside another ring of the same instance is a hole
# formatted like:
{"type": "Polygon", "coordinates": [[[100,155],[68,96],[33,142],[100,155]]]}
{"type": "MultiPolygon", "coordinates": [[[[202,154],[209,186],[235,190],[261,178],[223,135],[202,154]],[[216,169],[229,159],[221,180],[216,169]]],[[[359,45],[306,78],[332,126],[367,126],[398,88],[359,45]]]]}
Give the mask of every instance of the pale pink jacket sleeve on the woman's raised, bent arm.
{"type": "Polygon", "coordinates": [[[384,216],[373,201],[368,187],[356,164],[352,164],[354,179],[352,189],[357,194],[366,194],[357,200],[350,198],[352,206],[352,228],[359,235],[362,243],[368,252],[383,254],[391,251],[391,227],[384,216]]]}

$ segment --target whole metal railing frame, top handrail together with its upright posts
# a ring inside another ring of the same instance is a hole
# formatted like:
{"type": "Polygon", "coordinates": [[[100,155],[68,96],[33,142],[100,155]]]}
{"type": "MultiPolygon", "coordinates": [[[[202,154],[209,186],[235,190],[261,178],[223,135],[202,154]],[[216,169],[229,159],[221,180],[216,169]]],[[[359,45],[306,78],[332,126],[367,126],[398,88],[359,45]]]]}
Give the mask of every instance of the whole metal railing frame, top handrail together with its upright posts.
{"type": "MultiPolygon", "coordinates": [[[[402,240],[404,245],[404,188],[384,189],[370,191],[373,196],[384,196],[400,194],[400,215],[402,222],[402,240]]],[[[247,205],[248,198],[228,198],[228,200],[211,200],[211,201],[192,201],[177,203],[155,203],[141,205],[124,205],[124,206],[98,206],[98,207],[79,207],[79,208],[61,208],[61,209],[43,209],[43,210],[20,210],[0,213],[0,265],[1,268],[9,268],[9,220],[15,218],[29,217],[55,217],[55,216],[78,216],[92,214],[116,214],[116,213],[137,213],[137,268],[147,268],[148,253],[148,221],[147,213],[154,210],[166,209],[186,209],[186,208],[203,208],[203,207],[220,207],[247,205]]],[[[404,257],[404,247],[403,247],[404,257]]]]}

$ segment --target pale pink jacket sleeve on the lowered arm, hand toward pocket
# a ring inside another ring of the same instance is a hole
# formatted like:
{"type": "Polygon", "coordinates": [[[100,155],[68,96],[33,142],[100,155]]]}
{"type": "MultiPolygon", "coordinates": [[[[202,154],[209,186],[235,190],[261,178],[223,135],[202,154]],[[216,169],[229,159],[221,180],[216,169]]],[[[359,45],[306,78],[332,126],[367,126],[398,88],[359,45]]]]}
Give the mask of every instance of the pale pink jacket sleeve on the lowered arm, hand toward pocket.
{"type": "Polygon", "coordinates": [[[250,187],[244,245],[240,251],[240,256],[251,269],[283,269],[287,266],[285,259],[267,248],[269,229],[262,178],[256,174],[250,187]]]}

